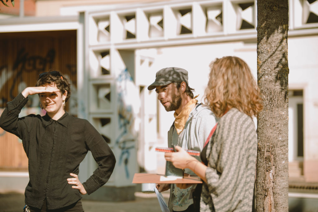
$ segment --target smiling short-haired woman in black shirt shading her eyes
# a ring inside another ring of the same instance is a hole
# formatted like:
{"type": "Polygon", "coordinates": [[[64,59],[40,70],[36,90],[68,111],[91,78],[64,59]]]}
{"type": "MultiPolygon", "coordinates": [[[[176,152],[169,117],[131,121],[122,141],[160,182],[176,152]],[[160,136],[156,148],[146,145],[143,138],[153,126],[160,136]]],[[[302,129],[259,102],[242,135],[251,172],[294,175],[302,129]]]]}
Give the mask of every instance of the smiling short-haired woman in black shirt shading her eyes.
{"type": "Polygon", "coordinates": [[[104,185],[114,170],[114,154],[100,133],[87,120],[65,111],[70,95],[69,81],[62,73],[41,73],[36,86],[8,102],[0,117],[0,127],[22,140],[29,159],[25,211],[84,211],[81,195],[104,185]],[[19,118],[28,96],[34,94],[46,114],[19,118]],[[88,151],[98,168],[81,183],[79,164],[88,151]]]}

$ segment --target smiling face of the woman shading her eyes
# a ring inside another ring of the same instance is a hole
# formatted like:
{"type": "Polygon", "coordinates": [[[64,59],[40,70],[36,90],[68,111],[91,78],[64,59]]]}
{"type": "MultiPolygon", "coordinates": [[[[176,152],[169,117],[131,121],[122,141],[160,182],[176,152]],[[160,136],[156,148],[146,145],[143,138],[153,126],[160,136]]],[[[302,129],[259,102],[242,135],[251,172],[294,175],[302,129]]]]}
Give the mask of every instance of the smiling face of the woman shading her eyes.
{"type": "MultiPolygon", "coordinates": [[[[47,84],[45,87],[57,87],[55,84],[47,84]]],[[[63,100],[66,99],[67,91],[61,95],[61,92],[45,92],[40,93],[40,102],[48,115],[52,118],[55,115],[62,116],[64,114],[63,100]]]]}

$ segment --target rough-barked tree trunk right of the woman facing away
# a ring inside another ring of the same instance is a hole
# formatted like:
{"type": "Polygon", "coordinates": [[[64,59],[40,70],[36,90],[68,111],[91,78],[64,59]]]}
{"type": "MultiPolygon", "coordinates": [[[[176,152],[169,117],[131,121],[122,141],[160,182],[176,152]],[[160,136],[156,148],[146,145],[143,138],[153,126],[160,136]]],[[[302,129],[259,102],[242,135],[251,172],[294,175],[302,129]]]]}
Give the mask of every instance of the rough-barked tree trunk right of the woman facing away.
{"type": "Polygon", "coordinates": [[[257,0],[256,211],[288,211],[288,0],[257,0]]]}

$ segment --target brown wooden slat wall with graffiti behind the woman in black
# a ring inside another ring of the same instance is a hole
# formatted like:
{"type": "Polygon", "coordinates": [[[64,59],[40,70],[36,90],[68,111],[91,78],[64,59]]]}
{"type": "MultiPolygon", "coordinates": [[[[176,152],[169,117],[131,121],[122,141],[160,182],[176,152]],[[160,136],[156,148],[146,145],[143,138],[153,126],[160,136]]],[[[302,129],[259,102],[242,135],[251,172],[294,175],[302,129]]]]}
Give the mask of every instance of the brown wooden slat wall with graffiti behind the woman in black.
{"type": "MultiPolygon", "coordinates": [[[[1,113],[8,101],[25,87],[36,84],[38,74],[50,69],[67,75],[76,88],[76,31],[0,33],[0,46],[1,113]]],[[[76,90],[72,94],[75,96],[76,90]]],[[[24,115],[32,108],[39,110],[37,95],[29,97],[24,115]]],[[[69,104],[66,104],[68,110],[69,104]]],[[[0,169],[25,169],[27,166],[22,143],[15,135],[0,129],[0,169]]]]}

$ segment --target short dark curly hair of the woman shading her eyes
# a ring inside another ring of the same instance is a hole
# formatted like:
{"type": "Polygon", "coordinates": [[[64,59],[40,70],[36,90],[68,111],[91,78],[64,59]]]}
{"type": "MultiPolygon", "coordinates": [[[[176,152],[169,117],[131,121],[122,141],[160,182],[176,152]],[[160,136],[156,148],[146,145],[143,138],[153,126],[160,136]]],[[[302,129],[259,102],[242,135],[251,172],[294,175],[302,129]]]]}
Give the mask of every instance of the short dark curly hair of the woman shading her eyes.
{"type": "Polygon", "coordinates": [[[65,102],[70,98],[71,96],[71,85],[66,77],[61,72],[58,71],[52,71],[42,73],[37,84],[35,85],[36,87],[38,86],[44,86],[48,84],[54,83],[56,87],[60,90],[61,94],[63,95],[65,91],[67,91],[66,99],[65,102]]]}

